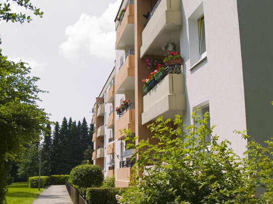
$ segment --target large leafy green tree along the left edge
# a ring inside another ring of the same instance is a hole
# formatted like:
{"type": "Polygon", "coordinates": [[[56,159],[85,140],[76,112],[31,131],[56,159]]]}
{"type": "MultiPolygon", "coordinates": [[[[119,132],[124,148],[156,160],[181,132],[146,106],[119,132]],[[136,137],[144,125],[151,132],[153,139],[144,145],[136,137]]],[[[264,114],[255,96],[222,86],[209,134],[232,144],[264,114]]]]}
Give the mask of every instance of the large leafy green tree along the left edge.
{"type": "Polygon", "coordinates": [[[40,90],[39,78],[30,77],[25,63],[7,60],[0,50],[0,201],[5,203],[5,156],[18,151],[24,144],[39,139],[48,121],[44,109],[36,103],[40,90]]]}

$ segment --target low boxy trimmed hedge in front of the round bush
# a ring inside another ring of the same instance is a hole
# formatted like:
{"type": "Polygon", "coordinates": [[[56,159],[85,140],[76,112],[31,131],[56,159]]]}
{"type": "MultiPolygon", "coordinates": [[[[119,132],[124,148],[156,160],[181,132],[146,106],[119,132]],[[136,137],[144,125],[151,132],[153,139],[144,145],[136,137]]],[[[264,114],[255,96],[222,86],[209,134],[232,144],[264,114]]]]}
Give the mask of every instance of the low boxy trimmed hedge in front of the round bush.
{"type": "Polygon", "coordinates": [[[88,204],[117,204],[117,194],[123,193],[127,188],[87,188],[86,189],[86,202],[88,204]]]}

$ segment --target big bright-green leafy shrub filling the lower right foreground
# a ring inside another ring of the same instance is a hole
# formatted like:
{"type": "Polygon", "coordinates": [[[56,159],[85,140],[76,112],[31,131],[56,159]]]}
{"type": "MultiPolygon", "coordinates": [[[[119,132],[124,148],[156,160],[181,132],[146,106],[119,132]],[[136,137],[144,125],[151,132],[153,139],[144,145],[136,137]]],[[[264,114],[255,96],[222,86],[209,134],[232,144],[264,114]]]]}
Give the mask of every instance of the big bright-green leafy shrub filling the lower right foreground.
{"type": "Polygon", "coordinates": [[[263,146],[237,132],[248,140],[248,150],[240,158],[228,147],[230,142],[220,142],[218,136],[211,135],[208,146],[206,135],[214,128],[207,125],[208,113],[200,119],[194,112],[192,119],[194,124],[186,127],[176,116],[176,129],[168,126],[170,119],[157,119],[148,126],[152,139],[158,140],[155,145],[151,139],[135,145],[137,137],[125,131],[138,160],[133,187],[119,196],[119,203],[273,203],[273,141],[263,146]],[[257,187],[263,190],[261,196],[257,187]]]}

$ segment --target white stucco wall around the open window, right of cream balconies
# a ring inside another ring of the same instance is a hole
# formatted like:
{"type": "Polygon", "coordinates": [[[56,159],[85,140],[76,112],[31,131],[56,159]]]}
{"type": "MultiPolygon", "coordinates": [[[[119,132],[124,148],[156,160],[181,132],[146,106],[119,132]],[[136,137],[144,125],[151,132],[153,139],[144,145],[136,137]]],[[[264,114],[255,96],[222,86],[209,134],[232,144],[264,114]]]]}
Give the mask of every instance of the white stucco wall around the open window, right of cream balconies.
{"type": "MultiPolygon", "coordinates": [[[[180,32],[180,52],[184,59],[187,110],[185,124],[195,106],[208,101],[211,125],[220,140],[228,139],[232,148],[242,155],[246,141],[233,131],[245,130],[245,103],[240,50],[240,36],[236,1],[183,0],[183,27],[180,32]],[[203,3],[202,3],[203,2],[203,3]],[[207,59],[195,67],[191,63],[189,18],[200,4],[205,17],[207,59]]],[[[203,103],[204,104],[204,103],[203,103]]]]}

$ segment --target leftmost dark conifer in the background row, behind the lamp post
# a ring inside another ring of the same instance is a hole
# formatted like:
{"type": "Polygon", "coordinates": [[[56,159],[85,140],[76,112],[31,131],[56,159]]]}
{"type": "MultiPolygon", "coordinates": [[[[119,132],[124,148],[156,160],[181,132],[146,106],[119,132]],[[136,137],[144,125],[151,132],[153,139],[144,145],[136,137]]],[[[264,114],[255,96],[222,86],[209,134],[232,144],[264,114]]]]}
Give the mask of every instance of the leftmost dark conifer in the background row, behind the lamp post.
{"type": "Polygon", "coordinates": [[[42,161],[44,162],[44,175],[50,175],[51,173],[51,146],[52,146],[52,138],[51,138],[51,126],[50,124],[46,125],[46,131],[44,132],[44,141],[43,141],[43,149],[42,149],[42,161]]]}

